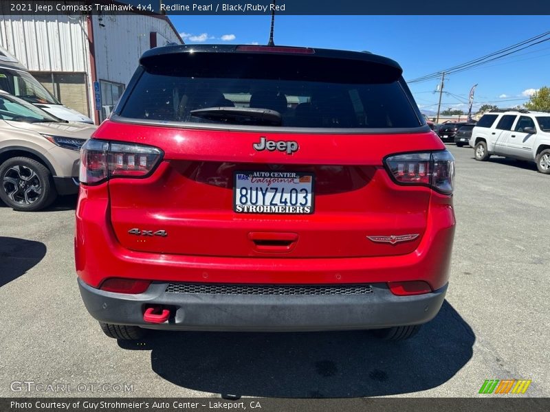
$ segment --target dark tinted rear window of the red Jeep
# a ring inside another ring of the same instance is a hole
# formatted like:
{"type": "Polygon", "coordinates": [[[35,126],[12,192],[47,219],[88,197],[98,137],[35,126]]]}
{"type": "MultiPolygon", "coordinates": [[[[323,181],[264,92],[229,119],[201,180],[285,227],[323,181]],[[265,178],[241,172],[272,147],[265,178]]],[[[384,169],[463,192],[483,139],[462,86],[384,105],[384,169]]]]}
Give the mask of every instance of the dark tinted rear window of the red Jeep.
{"type": "Polygon", "coordinates": [[[423,124],[404,80],[393,68],[303,56],[199,55],[159,56],[148,62],[119,114],[159,122],[248,124],[250,119],[232,116],[230,110],[224,115],[221,109],[215,118],[192,111],[244,108],[245,114],[246,108],[262,108],[280,113],[282,127],[423,124]]]}

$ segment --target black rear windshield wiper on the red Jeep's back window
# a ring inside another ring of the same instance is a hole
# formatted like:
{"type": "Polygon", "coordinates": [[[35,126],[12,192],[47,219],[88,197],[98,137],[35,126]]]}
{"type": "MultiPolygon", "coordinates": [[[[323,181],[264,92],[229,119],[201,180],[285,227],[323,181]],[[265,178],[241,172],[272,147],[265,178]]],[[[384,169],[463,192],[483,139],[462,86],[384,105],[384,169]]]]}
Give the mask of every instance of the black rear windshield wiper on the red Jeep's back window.
{"type": "Polygon", "coordinates": [[[192,110],[193,117],[215,122],[281,126],[283,117],[278,111],[255,107],[207,107],[192,110]]]}

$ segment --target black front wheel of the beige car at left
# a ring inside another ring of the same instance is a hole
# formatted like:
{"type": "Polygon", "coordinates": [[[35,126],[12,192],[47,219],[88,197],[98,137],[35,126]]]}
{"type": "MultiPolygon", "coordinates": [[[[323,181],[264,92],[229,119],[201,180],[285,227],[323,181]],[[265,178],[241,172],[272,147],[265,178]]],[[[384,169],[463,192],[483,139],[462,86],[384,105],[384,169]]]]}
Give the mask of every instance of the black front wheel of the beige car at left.
{"type": "Polygon", "coordinates": [[[0,198],[14,210],[44,209],[57,197],[50,170],[28,157],[13,157],[2,163],[0,182],[0,198]]]}

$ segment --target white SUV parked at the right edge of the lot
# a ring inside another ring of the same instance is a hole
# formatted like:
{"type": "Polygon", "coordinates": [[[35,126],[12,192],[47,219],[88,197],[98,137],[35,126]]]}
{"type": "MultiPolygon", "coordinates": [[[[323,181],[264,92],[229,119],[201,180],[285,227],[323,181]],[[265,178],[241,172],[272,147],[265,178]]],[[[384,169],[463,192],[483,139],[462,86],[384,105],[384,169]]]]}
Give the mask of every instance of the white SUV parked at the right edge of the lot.
{"type": "Polygon", "coordinates": [[[470,137],[476,160],[491,155],[534,161],[550,174],[550,113],[492,111],[479,119],[470,137]]]}

